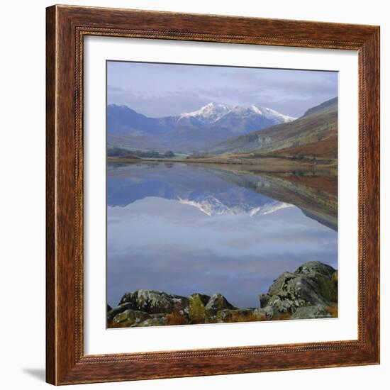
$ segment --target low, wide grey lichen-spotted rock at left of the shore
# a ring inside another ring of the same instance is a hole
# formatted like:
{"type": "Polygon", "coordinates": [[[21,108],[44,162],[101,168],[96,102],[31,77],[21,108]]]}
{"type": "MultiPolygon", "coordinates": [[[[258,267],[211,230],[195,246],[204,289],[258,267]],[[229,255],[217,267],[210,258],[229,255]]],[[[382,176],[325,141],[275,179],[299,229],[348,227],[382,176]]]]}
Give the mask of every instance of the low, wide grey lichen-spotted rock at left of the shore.
{"type": "Polygon", "coordinates": [[[163,291],[137,290],[126,293],[121,303],[130,303],[133,310],[146,313],[188,313],[189,299],[163,291]]]}

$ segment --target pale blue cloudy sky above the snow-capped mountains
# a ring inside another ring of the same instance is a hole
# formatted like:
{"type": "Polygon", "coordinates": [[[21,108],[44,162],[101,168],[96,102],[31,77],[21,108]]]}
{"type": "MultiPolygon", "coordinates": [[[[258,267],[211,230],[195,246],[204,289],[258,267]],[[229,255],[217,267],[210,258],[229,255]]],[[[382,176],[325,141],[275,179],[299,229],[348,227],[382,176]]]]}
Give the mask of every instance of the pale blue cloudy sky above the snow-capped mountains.
{"type": "Polygon", "coordinates": [[[158,118],[196,111],[211,101],[257,104],[299,117],[338,96],[338,72],[107,62],[107,104],[158,118]]]}

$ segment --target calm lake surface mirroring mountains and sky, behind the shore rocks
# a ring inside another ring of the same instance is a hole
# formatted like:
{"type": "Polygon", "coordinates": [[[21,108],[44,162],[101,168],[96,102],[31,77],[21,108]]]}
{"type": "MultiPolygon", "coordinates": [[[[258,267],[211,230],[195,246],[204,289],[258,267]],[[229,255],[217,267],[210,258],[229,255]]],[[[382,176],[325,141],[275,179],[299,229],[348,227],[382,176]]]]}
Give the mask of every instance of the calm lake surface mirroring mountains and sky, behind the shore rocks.
{"type": "Polygon", "coordinates": [[[258,294],[284,271],[310,260],[337,268],[329,180],[182,163],[108,165],[108,303],[155,289],[221,293],[235,306],[258,307],[258,294]]]}

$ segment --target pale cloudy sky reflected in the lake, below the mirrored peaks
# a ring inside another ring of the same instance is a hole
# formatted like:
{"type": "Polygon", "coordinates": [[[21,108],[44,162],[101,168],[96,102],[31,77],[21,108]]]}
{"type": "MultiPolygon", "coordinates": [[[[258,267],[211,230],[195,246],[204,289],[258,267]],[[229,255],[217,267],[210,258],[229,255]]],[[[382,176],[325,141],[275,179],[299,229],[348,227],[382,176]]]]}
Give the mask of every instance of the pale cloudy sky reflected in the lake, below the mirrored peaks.
{"type": "Polygon", "coordinates": [[[108,208],[108,217],[112,305],[127,291],[157,289],[184,296],[219,292],[237,306],[258,306],[257,295],[282,272],[309,260],[337,264],[337,233],[298,208],[260,218],[210,218],[177,201],[144,198],[108,208]]]}

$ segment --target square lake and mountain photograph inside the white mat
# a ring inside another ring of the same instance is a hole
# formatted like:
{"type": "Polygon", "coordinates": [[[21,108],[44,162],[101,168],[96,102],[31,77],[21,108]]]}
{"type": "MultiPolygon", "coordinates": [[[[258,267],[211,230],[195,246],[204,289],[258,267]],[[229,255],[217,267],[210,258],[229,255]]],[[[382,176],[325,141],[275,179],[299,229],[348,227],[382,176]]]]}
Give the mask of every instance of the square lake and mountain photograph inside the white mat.
{"type": "Polygon", "coordinates": [[[338,72],[106,61],[106,327],[338,318],[338,72]]]}

